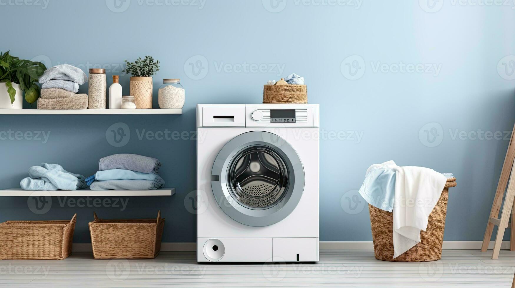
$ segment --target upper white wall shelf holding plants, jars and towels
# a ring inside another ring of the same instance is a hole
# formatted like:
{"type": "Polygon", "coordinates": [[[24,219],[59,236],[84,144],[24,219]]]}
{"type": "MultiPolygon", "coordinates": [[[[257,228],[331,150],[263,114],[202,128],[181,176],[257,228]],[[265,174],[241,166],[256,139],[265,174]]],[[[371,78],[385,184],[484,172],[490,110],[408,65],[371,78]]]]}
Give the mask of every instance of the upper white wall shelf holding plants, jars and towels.
{"type": "Polygon", "coordinates": [[[182,114],[182,109],[0,109],[0,115],[123,115],[123,114],[182,114]]]}

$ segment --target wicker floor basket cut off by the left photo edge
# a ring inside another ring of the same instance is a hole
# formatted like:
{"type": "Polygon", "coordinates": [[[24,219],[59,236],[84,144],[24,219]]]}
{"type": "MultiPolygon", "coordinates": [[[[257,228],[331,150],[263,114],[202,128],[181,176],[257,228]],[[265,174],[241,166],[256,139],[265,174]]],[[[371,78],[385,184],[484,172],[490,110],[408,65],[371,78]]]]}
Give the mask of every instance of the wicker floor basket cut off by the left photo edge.
{"type": "Polygon", "coordinates": [[[0,260],[62,260],[72,254],[72,220],[0,223],[0,260]]]}

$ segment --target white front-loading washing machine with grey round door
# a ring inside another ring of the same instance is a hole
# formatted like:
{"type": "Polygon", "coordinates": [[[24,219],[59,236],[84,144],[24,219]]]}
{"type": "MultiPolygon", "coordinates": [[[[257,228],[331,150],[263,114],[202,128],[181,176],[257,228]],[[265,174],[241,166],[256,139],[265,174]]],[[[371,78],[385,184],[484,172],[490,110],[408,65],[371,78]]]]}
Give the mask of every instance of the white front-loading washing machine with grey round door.
{"type": "Polygon", "coordinates": [[[198,262],[318,261],[318,104],[198,104],[196,202],[198,262]]]}

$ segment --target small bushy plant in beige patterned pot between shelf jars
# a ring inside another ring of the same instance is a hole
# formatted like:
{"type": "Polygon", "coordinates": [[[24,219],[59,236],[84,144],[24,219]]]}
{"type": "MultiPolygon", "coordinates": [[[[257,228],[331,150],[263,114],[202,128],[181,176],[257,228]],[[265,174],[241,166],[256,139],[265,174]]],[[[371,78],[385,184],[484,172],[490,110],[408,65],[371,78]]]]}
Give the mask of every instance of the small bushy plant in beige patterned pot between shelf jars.
{"type": "Polygon", "coordinates": [[[138,58],[134,62],[125,60],[125,69],[122,72],[131,74],[130,95],[134,96],[136,109],[152,108],[152,75],[159,71],[159,61],[154,62],[150,56],[145,59],[138,58]]]}

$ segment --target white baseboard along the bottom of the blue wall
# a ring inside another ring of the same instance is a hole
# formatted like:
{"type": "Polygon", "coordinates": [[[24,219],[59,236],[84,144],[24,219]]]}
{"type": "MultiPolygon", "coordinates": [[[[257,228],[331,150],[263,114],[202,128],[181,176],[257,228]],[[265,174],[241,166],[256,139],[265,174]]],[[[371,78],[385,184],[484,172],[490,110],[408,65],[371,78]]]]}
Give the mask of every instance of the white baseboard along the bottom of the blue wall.
{"type": "MultiPolygon", "coordinates": [[[[483,241],[443,241],[443,249],[481,249],[483,241]]],[[[488,249],[493,248],[494,241],[490,241],[488,249]]],[[[509,249],[510,242],[503,241],[501,249],[509,249]]],[[[195,242],[161,243],[161,251],[195,251],[195,242]]],[[[320,250],[373,250],[372,241],[320,241],[320,250]]],[[[74,252],[91,252],[91,243],[74,243],[74,252]]]]}

